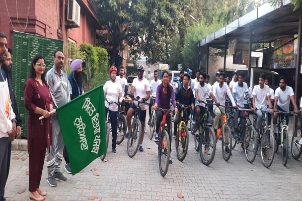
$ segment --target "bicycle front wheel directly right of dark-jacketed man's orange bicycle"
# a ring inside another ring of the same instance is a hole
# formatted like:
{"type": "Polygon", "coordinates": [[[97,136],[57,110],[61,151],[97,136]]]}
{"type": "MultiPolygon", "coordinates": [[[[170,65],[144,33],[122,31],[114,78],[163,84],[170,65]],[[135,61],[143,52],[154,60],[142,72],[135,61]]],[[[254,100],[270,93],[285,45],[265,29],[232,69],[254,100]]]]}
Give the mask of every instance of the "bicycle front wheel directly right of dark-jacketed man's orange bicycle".
{"type": "Polygon", "coordinates": [[[205,165],[211,164],[216,152],[216,136],[211,127],[205,127],[200,134],[199,155],[201,162],[205,165]]]}

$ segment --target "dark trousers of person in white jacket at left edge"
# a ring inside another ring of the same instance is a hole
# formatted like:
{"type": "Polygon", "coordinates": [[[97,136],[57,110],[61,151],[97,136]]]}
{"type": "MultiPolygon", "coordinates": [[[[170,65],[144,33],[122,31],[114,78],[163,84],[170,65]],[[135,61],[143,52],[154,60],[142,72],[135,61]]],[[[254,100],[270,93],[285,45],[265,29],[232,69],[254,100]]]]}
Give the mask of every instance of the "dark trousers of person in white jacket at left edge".
{"type": "Polygon", "coordinates": [[[4,197],[4,188],[8,176],[9,137],[0,138],[0,197],[4,197]]]}

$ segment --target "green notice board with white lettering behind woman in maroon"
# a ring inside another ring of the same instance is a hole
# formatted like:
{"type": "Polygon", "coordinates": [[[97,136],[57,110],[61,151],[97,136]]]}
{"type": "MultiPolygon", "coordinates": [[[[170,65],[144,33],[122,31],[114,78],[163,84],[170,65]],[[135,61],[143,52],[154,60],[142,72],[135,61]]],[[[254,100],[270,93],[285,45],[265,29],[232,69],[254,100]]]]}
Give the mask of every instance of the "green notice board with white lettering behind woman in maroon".
{"type": "Polygon", "coordinates": [[[63,50],[62,40],[51,39],[14,31],[13,42],[13,88],[22,118],[22,137],[27,136],[27,111],[24,106],[24,84],[29,77],[30,64],[36,54],[45,58],[46,70],[52,68],[53,54],[63,50]]]}

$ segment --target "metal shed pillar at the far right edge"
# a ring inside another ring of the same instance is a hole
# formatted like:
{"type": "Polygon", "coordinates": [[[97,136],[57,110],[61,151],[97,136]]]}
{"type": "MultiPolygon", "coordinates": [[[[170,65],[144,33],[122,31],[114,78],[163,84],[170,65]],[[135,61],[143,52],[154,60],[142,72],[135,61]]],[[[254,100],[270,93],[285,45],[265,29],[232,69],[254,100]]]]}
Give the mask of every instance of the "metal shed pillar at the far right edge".
{"type": "MultiPolygon", "coordinates": [[[[296,70],[295,70],[295,85],[294,85],[294,94],[296,96],[297,106],[300,105],[298,103],[299,98],[301,97],[301,89],[298,89],[298,86],[301,84],[301,56],[302,56],[302,12],[300,12],[299,18],[299,28],[298,28],[298,51],[297,51],[297,62],[296,62],[296,70]]],[[[297,118],[294,116],[294,128],[297,126],[297,118]]],[[[301,126],[301,125],[300,125],[301,126]]]]}

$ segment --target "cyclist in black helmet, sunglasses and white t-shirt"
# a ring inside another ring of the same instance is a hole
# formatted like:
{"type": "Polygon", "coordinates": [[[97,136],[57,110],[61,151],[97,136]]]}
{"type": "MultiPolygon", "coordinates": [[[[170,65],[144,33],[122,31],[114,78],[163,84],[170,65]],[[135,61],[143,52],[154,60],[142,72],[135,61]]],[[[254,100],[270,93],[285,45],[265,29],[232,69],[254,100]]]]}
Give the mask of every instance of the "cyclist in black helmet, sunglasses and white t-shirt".
{"type": "MultiPolygon", "coordinates": [[[[145,127],[145,121],[146,121],[146,110],[147,105],[146,101],[150,98],[150,84],[149,81],[143,77],[144,67],[143,65],[139,64],[137,66],[137,77],[133,79],[132,86],[131,86],[131,94],[130,97],[136,97],[138,98],[140,104],[140,115],[139,120],[141,123],[141,138],[139,142],[139,151],[143,152],[142,148],[142,141],[144,136],[144,127],[145,127]]],[[[125,138],[128,138],[129,136],[129,130],[131,129],[131,119],[134,113],[136,106],[135,102],[131,105],[127,112],[127,126],[128,126],[128,132],[125,135],[125,138]]]]}

